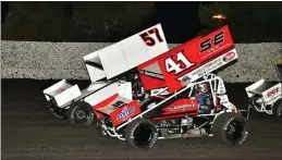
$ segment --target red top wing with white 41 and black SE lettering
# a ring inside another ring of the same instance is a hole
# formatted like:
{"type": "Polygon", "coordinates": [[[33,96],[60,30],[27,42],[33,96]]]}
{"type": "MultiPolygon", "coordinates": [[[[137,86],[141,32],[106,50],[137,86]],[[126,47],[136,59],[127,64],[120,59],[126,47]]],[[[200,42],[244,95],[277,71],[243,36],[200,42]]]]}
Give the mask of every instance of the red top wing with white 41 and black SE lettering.
{"type": "Polygon", "coordinates": [[[173,93],[237,58],[228,26],[196,37],[137,69],[145,89],[167,86],[173,93]]]}

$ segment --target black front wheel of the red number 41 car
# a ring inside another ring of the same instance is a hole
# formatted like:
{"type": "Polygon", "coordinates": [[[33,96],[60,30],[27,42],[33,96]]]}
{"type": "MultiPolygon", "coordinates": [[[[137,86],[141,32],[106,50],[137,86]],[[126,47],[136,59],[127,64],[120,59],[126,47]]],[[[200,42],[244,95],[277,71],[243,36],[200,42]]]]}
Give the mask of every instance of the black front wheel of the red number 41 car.
{"type": "Polygon", "coordinates": [[[126,127],[125,140],[133,149],[150,149],[155,146],[157,139],[157,127],[147,119],[137,119],[126,127]]]}

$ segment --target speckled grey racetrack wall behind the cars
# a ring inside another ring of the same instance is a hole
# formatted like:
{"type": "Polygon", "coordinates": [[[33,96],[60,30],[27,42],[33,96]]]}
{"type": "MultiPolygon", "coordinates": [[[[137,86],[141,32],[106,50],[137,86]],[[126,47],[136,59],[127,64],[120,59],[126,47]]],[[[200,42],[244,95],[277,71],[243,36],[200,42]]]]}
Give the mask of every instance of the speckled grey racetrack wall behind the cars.
{"type": "MultiPolygon", "coordinates": [[[[36,79],[89,79],[83,57],[109,42],[1,41],[1,77],[36,79]]],[[[170,48],[176,45],[170,45],[170,48]]],[[[273,60],[282,44],[236,44],[237,62],[220,71],[228,83],[278,81],[273,60]]]]}

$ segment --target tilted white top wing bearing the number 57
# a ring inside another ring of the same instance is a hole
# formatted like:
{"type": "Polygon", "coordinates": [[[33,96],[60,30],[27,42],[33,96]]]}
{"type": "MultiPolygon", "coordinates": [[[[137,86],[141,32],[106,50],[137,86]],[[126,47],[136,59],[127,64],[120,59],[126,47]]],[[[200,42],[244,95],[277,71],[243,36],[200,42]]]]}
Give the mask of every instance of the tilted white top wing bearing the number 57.
{"type": "Polygon", "coordinates": [[[84,61],[91,82],[112,78],[169,50],[160,24],[95,51],[84,61]]]}

